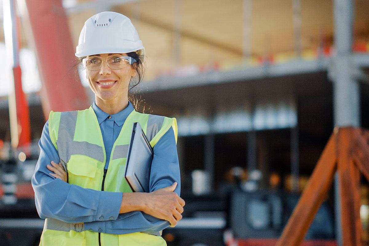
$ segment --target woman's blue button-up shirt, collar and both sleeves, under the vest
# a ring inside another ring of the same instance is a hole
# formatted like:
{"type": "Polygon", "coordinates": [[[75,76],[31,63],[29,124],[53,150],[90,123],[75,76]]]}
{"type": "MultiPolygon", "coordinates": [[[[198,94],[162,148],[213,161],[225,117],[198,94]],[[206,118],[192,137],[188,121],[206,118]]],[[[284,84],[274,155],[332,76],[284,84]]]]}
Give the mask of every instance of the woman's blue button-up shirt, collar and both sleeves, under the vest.
{"type": "MultiPolygon", "coordinates": [[[[100,124],[107,156],[110,156],[114,141],[127,116],[134,110],[128,106],[110,115],[92,105],[100,124]]],[[[85,230],[110,234],[126,234],[141,231],[158,232],[168,227],[168,221],[155,218],[141,211],[119,214],[122,192],[97,191],[68,184],[55,179],[46,165],[60,162],[58,151],[49,136],[49,121],[45,123],[39,141],[40,156],[32,177],[35,204],[39,216],[55,218],[68,223],[84,222],[85,230]]],[[[105,168],[109,166],[106,158],[105,168]]],[[[159,139],[154,146],[154,158],[150,173],[150,192],[177,182],[175,192],[180,195],[180,173],[177,147],[173,128],[159,139]]],[[[124,199],[124,198],[123,198],[124,199]]]]}

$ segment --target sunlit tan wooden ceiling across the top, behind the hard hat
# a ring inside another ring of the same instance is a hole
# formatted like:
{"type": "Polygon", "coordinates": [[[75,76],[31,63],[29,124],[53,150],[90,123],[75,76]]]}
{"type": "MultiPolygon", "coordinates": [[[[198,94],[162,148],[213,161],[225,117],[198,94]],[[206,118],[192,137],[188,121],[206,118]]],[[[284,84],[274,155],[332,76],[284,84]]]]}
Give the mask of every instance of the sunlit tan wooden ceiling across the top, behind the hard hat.
{"type": "MultiPolygon", "coordinates": [[[[79,3],[93,2],[79,0],[79,3]]],[[[106,1],[108,3],[108,1],[106,1]]],[[[114,1],[117,3],[117,1],[114,1]]],[[[216,62],[242,61],[242,0],[141,0],[114,4],[111,11],[131,18],[147,54],[146,78],[175,67],[174,26],[180,22],[179,65],[206,66],[216,62]]],[[[354,38],[368,42],[368,0],[355,0],[354,38]]],[[[68,14],[74,45],[91,8],[68,14]]],[[[73,11],[72,11],[73,12],[73,11]]],[[[303,50],[329,46],[333,40],[332,0],[301,0],[301,46],[303,50]]],[[[292,0],[252,0],[251,36],[253,57],[276,53],[293,55],[295,49],[292,0]]],[[[24,32],[22,32],[24,34],[24,32]]],[[[0,42],[4,39],[0,31],[0,42]]],[[[27,46],[23,38],[23,46],[27,46]]]]}

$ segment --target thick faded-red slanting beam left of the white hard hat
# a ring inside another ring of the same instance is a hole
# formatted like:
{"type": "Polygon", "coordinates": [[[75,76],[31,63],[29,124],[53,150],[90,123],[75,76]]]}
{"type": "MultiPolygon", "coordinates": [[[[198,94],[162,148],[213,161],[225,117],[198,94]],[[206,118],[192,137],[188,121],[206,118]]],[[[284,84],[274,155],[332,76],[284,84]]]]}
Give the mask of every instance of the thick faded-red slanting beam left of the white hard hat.
{"type": "MultiPolygon", "coordinates": [[[[45,118],[51,110],[89,107],[75,66],[75,48],[62,0],[25,0],[41,76],[41,103],[45,118]]],[[[77,23],[82,25],[83,23],[77,23]]]]}

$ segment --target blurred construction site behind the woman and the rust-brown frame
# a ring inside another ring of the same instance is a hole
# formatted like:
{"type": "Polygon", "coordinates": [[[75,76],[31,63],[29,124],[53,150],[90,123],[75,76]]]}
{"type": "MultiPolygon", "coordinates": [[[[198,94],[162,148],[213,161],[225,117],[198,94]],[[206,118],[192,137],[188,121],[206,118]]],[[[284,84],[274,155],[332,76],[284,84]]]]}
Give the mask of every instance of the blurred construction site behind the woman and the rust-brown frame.
{"type": "MultiPolygon", "coordinates": [[[[74,52],[101,11],[129,17],[145,46],[138,109],[177,118],[186,207],[163,232],[168,245],[274,245],[334,126],[369,128],[368,10],[368,0],[0,0],[0,245],[38,245],[38,140],[50,110],[94,100],[74,52]]],[[[334,187],[306,245],[337,245],[334,187]]],[[[368,205],[362,179],[363,242],[368,205]]]]}

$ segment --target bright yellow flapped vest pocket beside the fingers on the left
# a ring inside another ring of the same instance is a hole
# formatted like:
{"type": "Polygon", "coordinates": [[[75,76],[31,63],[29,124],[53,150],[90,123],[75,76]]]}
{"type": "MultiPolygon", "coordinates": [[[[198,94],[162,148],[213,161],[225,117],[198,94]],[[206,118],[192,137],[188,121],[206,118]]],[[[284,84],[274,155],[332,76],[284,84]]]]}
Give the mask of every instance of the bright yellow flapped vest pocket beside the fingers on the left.
{"type": "Polygon", "coordinates": [[[97,168],[97,163],[97,160],[88,156],[71,155],[67,163],[69,184],[99,190],[101,170],[97,168]]]}

